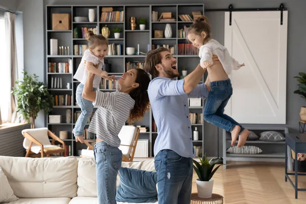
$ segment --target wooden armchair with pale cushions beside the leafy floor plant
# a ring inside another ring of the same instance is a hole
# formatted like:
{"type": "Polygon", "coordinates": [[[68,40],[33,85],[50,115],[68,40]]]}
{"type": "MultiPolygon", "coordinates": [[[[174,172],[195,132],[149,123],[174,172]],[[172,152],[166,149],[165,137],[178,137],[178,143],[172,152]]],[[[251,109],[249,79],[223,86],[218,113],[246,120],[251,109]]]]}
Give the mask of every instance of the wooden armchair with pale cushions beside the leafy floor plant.
{"type": "Polygon", "coordinates": [[[41,158],[46,155],[49,157],[50,154],[63,153],[63,156],[66,157],[66,145],[63,140],[61,140],[54,133],[49,131],[46,127],[36,128],[36,129],[25,129],[21,131],[24,140],[23,147],[27,149],[25,157],[29,157],[31,153],[41,155],[41,158]],[[49,137],[52,137],[52,142],[50,142],[49,137]],[[55,141],[59,141],[62,147],[54,145],[55,141]]]}

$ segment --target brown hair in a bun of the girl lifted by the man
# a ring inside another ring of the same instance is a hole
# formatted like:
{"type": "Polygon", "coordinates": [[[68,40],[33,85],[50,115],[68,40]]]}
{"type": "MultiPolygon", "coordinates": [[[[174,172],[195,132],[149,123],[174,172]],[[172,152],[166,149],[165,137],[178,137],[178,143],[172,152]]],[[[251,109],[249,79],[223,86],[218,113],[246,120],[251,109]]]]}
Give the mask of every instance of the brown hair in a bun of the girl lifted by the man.
{"type": "Polygon", "coordinates": [[[194,33],[201,36],[201,33],[206,33],[206,38],[204,39],[204,42],[211,37],[212,30],[210,28],[209,20],[205,15],[202,15],[200,17],[197,17],[193,23],[190,25],[187,31],[188,33],[194,33]]]}

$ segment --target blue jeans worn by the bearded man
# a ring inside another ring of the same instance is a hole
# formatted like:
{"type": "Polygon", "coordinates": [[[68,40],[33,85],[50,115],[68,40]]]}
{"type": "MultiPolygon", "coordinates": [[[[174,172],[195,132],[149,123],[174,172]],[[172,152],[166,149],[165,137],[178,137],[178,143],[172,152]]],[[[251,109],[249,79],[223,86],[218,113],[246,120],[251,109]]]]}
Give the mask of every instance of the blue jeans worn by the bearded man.
{"type": "Polygon", "coordinates": [[[154,159],[157,171],[158,203],[190,203],[192,158],[182,157],[170,149],[158,152],[154,159]]]}

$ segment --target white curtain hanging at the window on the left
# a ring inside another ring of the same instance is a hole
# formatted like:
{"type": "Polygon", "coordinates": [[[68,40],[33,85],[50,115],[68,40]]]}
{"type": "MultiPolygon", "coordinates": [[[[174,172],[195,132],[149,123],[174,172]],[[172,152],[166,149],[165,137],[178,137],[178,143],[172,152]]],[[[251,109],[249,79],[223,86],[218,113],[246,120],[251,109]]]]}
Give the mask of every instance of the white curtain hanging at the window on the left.
{"type": "MultiPolygon", "coordinates": [[[[16,39],[15,39],[15,14],[11,12],[5,12],[5,36],[6,36],[6,50],[8,59],[8,69],[9,71],[9,84],[10,86],[3,87],[9,90],[9,109],[8,109],[8,122],[20,122],[17,117],[16,112],[16,98],[10,93],[12,88],[15,86],[15,81],[18,79],[18,69],[17,69],[17,55],[16,55],[16,39]]],[[[8,92],[7,92],[8,93],[8,92]]]]}

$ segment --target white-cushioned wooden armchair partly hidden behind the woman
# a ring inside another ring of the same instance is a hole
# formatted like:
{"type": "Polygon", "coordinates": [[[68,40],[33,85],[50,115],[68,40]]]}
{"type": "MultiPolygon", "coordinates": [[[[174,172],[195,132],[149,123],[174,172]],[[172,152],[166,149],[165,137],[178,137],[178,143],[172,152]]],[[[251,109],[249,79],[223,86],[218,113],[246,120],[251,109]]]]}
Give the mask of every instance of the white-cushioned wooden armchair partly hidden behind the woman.
{"type": "MultiPolygon", "coordinates": [[[[122,151],[123,162],[133,162],[139,132],[138,127],[131,125],[122,126],[118,137],[121,140],[119,149],[122,151]]],[[[87,149],[82,149],[81,157],[93,157],[92,143],[95,143],[95,140],[84,140],[84,143],[87,145],[87,149]]]]}

